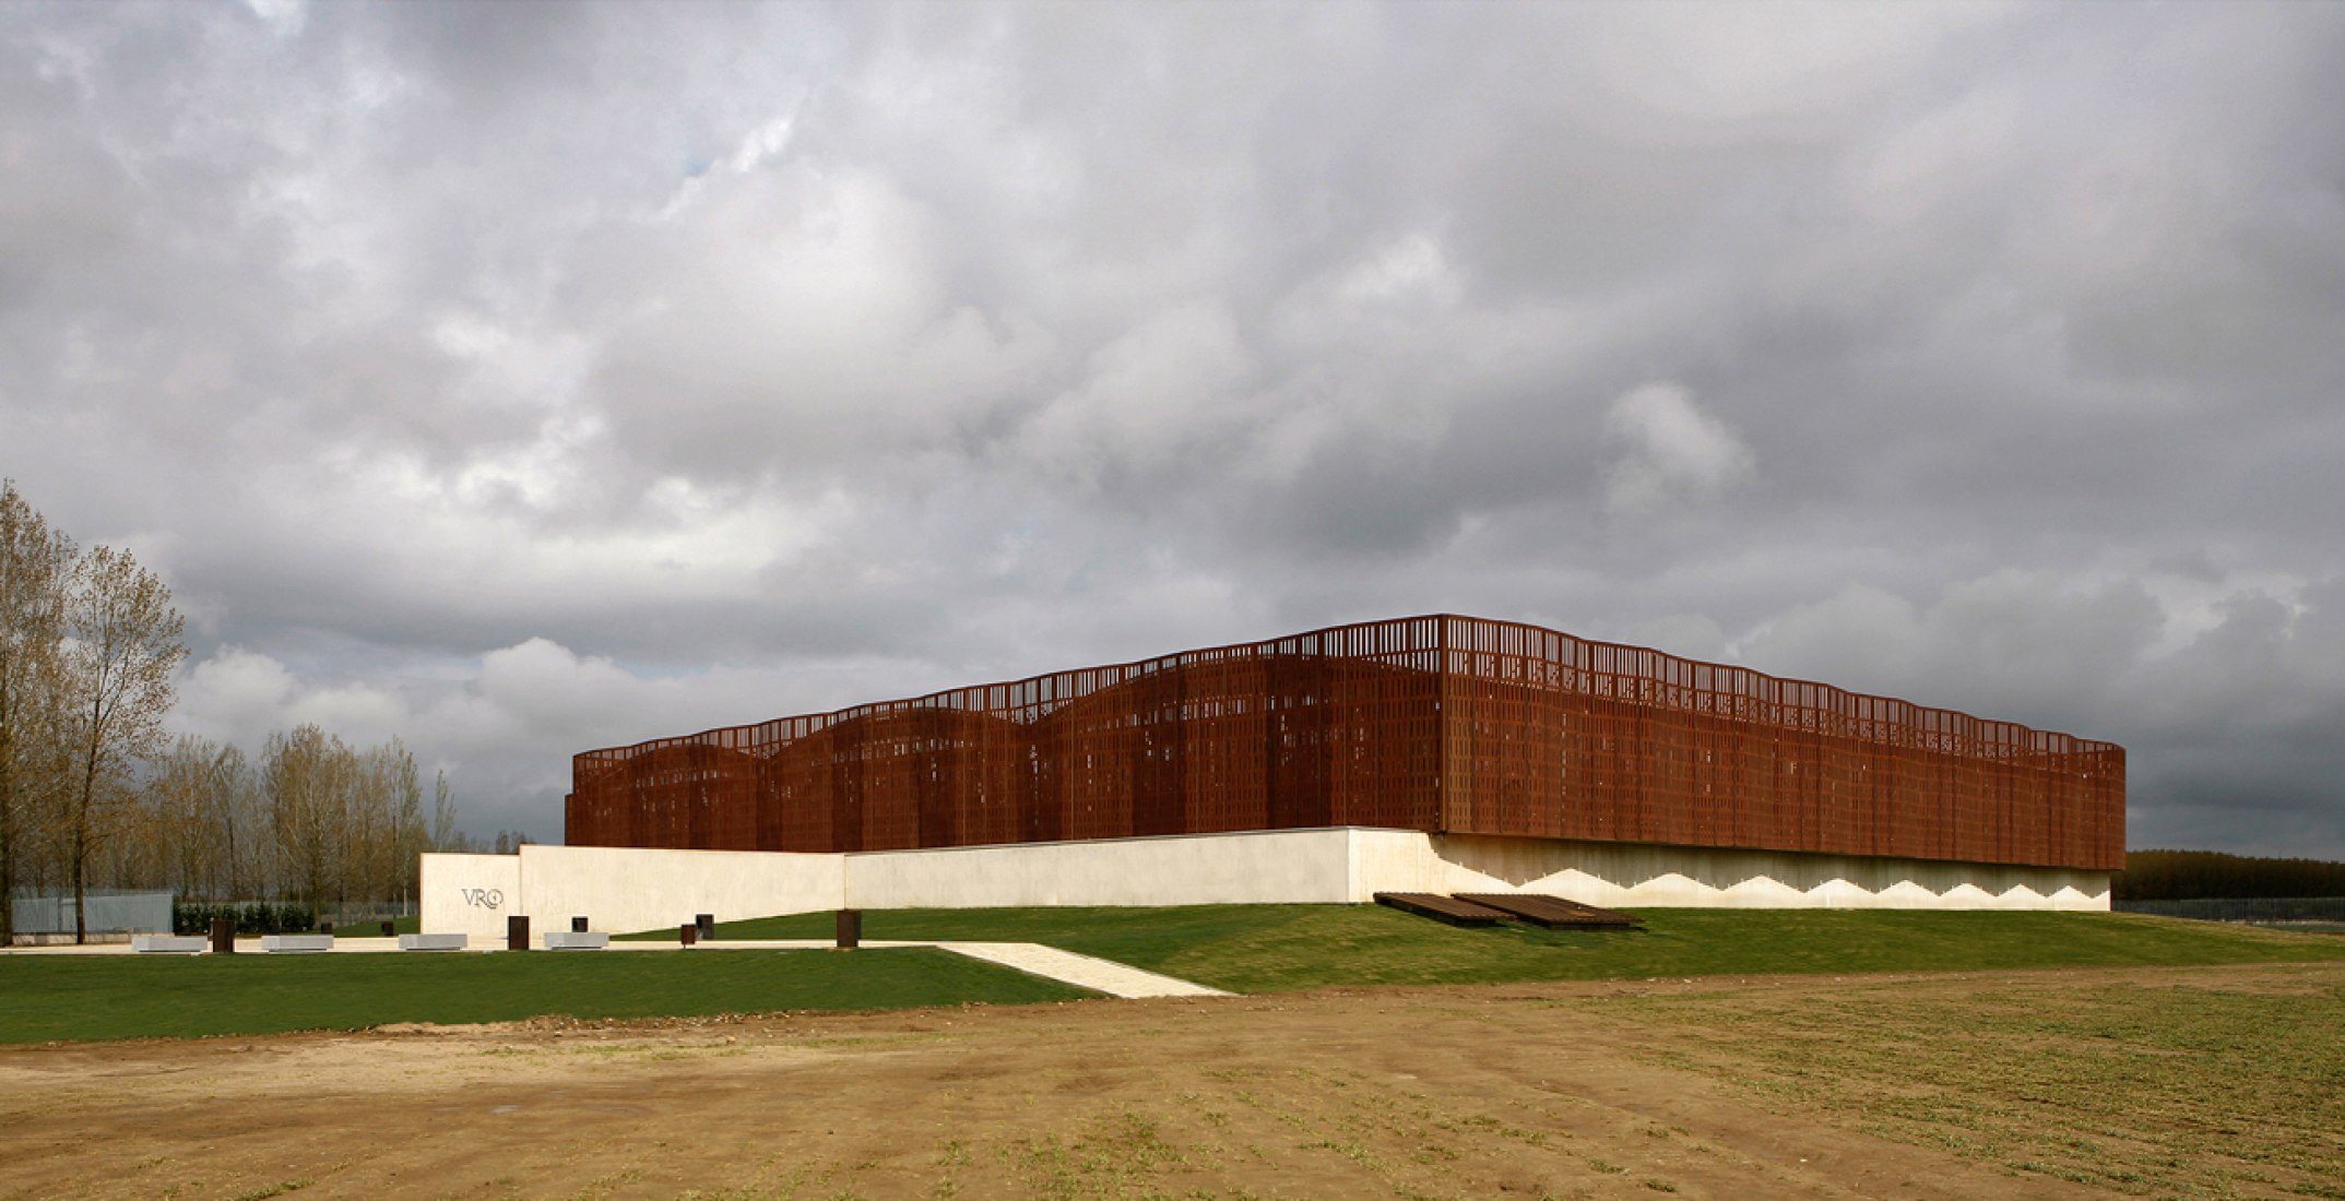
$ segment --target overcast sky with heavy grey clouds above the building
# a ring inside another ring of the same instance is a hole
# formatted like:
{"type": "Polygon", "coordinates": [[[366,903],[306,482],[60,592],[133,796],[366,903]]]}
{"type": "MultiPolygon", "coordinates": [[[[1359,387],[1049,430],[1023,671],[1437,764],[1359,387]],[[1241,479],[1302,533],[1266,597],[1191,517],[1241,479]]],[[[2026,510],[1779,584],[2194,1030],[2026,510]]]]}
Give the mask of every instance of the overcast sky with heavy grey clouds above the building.
{"type": "Polygon", "coordinates": [[[476,833],[1447,610],[2336,859],[2340,399],[2345,5],[0,7],[0,474],[476,833]]]}

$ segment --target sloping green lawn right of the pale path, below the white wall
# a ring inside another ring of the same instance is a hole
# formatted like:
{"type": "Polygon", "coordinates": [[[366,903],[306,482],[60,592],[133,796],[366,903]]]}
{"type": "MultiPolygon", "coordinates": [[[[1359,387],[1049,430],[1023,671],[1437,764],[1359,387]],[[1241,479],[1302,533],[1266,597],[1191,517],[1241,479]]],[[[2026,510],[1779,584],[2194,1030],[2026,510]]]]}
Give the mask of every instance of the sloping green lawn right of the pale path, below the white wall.
{"type": "MultiPolygon", "coordinates": [[[[1543,931],[1454,929],[1384,905],[868,910],[863,938],[1048,943],[1233,992],[2345,959],[2345,938],[2336,936],[2122,912],[1642,910],[1642,931],[1543,931]]],[[[828,938],[830,931],[828,912],[718,924],[718,938],[828,938]]]]}

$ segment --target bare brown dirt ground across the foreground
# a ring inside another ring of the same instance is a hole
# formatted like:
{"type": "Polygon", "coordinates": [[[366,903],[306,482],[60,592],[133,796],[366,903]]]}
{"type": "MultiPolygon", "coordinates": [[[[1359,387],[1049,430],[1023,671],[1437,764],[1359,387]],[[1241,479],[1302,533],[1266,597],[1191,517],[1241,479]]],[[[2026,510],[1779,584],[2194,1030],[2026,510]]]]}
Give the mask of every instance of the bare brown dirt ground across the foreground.
{"type": "MultiPolygon", "coordinates": [[[[1780,1004],[1878,983],[1327,990],[0,1049],[0,1196],[2096,1194],[1738,1088],[1672,1058],[1686,1034],[1667,1023],[1583,1004],[1780,1004]]],[[[1911,988],[1960,999],[1998,976],[1911,988]]]]}

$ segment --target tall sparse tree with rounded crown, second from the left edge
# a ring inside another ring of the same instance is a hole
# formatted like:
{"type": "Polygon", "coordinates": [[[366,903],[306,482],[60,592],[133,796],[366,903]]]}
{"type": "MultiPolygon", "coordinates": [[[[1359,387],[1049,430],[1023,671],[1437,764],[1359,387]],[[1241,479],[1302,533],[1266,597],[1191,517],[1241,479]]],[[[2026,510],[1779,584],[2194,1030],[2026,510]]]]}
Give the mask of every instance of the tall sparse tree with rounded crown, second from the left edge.
{"type": "Polygon", "coordinates": [[[73,746],[73,800],[66,859],[73,873],[73,941],[89,941],[84,898],[89,854],[110,833],[106,819],[129,795],[129,767],[162,741],[171,673],[188,657],[171,589],[129,551],[98,547],[66,586],[61,715],[73,746]]]}

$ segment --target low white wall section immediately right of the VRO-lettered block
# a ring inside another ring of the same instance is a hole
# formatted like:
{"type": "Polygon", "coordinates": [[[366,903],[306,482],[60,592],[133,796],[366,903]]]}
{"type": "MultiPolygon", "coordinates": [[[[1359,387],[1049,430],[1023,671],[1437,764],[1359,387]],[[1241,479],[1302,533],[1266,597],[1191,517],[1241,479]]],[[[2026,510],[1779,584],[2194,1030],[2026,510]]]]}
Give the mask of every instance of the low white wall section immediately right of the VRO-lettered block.
{"type": "MultiPolygon", "coordinates": [[[[699,912],[718,922],[842,908],[837,854],[640,851],[626,847],[521,847],[530,934],[675,929],[699,912]]],[[[499,927],[502,934],[502,927],[499,927]]]]}

